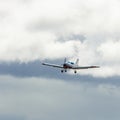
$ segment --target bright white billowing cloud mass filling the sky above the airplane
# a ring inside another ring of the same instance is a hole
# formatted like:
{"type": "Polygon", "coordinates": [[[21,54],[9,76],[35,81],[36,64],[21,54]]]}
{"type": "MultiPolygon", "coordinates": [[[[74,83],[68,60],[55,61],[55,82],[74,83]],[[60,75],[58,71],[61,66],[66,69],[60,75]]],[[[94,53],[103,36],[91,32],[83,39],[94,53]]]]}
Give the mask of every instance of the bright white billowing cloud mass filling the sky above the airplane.
{"type": "Polygon", "coordinates": [[[1,0],[0,61],[80,57],[80,65],[105,66],[104,72],[97,72],[100,76],[120,75],[116,72],[120,71],[116,67],[120,59],[119,6],[118,0],[1,0]],[[82,43],[59,40],[71,34],[86,39],[82,43]],[[107,72],[109,68],[111,72],[107,72]]]}

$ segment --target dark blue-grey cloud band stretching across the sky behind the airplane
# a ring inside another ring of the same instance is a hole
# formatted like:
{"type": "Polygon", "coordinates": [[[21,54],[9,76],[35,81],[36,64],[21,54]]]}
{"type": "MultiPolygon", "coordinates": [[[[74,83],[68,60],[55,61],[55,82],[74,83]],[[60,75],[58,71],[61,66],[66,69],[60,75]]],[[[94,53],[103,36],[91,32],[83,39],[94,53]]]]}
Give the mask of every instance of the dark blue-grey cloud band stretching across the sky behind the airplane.
{"type": "MultiPolygon", "coordinates": [[[[61,64],[61,60],[48,61],[50,63],[61,64]]],[[[80,70],[78,71],[80,72],[80,70]]],[[[40,61],[28,62],[28,63],[0,63],[0,74],[1,75],[12,75],[16,77],[42,77],[49,79],[61,79],[65,81],[80,81],[88,82],[92,84],[99,83],[110,83],[120,85],[120,77],[108,77],[108,78],[97,78],[89,75],[69,74],[61,73],[60,69],[47,67],[41,65],[40,61]]]]}

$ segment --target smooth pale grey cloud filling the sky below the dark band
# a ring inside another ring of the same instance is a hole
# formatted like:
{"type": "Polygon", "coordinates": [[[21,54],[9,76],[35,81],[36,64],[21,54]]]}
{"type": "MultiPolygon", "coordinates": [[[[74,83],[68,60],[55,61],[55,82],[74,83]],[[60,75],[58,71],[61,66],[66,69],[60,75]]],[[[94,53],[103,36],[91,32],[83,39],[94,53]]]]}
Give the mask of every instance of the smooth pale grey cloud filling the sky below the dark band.
{"type": "Polygon", "coordinates": [[[0,113],[20,120],[119,120],[119,96],[109,83],[0,76],[0,113]]]}

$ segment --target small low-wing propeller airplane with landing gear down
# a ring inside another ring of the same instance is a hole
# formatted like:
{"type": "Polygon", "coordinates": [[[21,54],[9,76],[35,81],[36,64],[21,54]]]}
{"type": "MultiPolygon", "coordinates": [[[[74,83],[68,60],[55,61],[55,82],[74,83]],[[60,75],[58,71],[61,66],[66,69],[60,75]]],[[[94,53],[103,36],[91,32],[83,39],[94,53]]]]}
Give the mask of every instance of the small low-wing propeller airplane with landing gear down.
{"type": "Polygon", "coordinates": [[[42,63],[42,65],[61,68],[61,73],[67,72],[68,69],[73,69],[74,73],[77,73],[79,69],[89,69],[89,68],[100,68],[99,66],[78,66],[79,59],[76,62],[67,61],[64,59],[64,63],[62,65],[50,64],[50,63],[42,63]]]}

